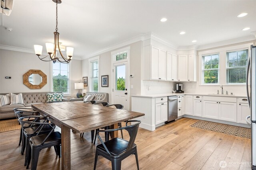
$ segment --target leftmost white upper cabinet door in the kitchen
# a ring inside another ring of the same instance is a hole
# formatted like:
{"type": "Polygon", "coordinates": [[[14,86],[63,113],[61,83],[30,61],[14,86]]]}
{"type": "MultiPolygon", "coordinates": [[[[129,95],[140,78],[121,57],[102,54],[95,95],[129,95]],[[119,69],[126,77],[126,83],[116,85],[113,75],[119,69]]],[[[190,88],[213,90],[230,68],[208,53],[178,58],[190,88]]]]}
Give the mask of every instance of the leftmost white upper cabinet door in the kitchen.
{"type": "Polygon", "coordinates": [[[159,49],[151,46],[151,79],[158,80],[158,51],[159,49]]]}

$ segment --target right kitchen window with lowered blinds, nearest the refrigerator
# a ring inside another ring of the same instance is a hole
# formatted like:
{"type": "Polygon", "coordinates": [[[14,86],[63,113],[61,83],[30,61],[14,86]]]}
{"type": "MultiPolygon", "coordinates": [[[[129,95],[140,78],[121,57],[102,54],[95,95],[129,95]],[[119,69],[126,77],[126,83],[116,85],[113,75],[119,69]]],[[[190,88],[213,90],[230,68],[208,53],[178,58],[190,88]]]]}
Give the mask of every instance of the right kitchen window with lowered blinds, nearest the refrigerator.
{"type": "Polygon", "coordinates": [[[248,49],[226,53],[227,84],[245,84],[248,49]]]}

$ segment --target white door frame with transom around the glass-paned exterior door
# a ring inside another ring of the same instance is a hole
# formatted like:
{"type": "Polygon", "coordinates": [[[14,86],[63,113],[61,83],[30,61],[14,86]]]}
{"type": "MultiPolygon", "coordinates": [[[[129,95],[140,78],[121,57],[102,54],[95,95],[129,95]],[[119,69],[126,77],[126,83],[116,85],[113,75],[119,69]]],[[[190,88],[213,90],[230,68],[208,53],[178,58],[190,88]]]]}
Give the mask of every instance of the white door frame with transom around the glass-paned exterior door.
{"type": "Polygon", "coordinates": [[[111,104],[114,104],[114,81],[116,76],[114,75],[114,64],[118,64],[118,63],[123,63],[127,61],[127,75],[128,77],[126,78],[127,81],[127,105],[128,105],[128,110],[130,110],[130,46],[129,47],[125,47],[122,49],[118,49],[116,51],[112,51],[111,52],[111,104]],[[124,60],[120,60],[120,61],[116,61],[116,55],[118,53],[123,53],[127,51],[127,59],[124,60]]]}

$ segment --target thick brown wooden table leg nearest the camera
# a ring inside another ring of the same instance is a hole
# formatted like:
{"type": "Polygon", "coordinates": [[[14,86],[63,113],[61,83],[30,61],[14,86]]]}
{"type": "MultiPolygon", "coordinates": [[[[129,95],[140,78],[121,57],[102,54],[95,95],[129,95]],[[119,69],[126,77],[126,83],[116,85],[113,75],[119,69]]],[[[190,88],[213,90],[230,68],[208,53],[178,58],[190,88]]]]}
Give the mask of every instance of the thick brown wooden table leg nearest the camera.
{"type": "Polygon", "coordinates": [[[61,169],[71,169],[70,129],[64,125],[61,125],[61,169]]]}

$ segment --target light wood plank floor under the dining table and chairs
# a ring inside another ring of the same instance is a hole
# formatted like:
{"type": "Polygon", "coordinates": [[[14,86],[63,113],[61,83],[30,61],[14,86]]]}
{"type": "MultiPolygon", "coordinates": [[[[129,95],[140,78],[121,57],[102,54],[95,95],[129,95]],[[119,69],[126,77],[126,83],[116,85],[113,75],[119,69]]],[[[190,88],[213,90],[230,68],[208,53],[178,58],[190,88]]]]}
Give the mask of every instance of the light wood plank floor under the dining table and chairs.
{"type": "MultiPolygon", "coordinates": [[[[219,170],[220,161],[226,161],[225,169],[250,169],[249,139],[190,127],[189,125],[195,121],[196,119],[181,118],[158,127],[154,132],[139,129],[136,144],[140,169],[219,170]]],[[[25,155],[20,154],[21,147],[18,146],[19,135],[20,130],[0,133],[1,170],[26,169],[25,155]]],[[[90,132],[85,133],[84,138],[78,133],[71,132],[73,170],[93,169],[95,149],[100,141],[97,140],[96,145],[93,145],[90,137],[90,132]]],[[[128,133],[125,133],[124,138],[128,138],[128,133]]],[[[60,159],[56,157],[53,148],[41,150],[37,169],[60,169],[60,159]]],[[[111,162],[100,156],[97,169],[111,169],[111,162]]],[[[134,155],[122,161],[122,170],[135,169],[134,155]]]]}

